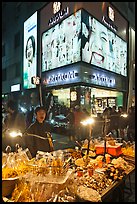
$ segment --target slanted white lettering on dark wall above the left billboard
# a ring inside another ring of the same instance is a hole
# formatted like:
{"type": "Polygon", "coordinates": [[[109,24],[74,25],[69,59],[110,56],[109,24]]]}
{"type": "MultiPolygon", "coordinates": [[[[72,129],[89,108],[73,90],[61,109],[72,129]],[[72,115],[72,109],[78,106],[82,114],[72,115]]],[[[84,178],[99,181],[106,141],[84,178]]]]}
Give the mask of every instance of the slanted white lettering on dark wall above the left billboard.
{"type": "Polygon", "coordinates": [[[55,13],[55,15],[49,20],[48,25],[51,26],[61,20],[63,17],[69,14],[69,8],[66,7],[60,12],[55,13]]]}

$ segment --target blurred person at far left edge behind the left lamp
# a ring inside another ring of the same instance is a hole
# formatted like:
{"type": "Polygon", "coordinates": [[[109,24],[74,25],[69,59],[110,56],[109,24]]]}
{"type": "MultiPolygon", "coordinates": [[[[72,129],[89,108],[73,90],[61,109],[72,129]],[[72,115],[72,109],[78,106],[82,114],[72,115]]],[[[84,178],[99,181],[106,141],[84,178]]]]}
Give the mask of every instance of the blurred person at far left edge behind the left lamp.
{"type": "Polygon", "coordinates": [[[9,131],[24,132],[26,129],[26,119],[24,113],[19,112],[18,104],[14,100],[9,100],[6,105],[7,116],[3,122],[3,148],[10,145],[15,150],[16,143],[23,146],[21,138],[10,138],[9,131]]]}

